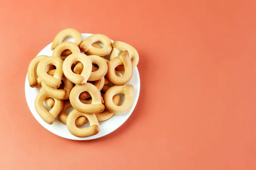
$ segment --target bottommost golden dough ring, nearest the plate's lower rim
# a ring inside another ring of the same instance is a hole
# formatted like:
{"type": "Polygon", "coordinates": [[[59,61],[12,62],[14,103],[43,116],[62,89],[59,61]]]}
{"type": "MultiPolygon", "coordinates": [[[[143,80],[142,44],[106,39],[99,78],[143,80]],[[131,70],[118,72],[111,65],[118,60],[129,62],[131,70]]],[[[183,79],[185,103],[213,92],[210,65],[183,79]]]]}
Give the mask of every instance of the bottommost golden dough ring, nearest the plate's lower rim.
{"type": "Polygon", "coordinates": [[[67,116],[67,129],[70,131],[71,134],[77,137],[88,137],[93,136],[99,133],[99,122],[97,120],[97,117],[95,114],[86,114],[81,113],[79,111],[73,110],[70,112],[70,114],[67,116]],[[83,129],[79,129],[76,127],[76,119],[80,116],[87,117],[88,121],[90,122],[89,127],[85,127],[83,129]]]}

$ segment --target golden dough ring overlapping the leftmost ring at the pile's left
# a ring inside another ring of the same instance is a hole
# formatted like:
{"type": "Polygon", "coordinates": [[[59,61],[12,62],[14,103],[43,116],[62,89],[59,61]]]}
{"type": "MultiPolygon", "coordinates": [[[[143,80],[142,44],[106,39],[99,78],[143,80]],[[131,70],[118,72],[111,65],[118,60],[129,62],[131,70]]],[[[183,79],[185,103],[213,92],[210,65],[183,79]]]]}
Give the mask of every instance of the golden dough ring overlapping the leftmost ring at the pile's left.
{"type": "Polygon", "coordinates": [[[38,64],[37,74],[38,77],[44,82],[46,85],[49,85],[53,88],[58,88],[61,85],[61,78],[63,75],[62,71],[62,59],[58,57],[45,57],[38,64]],[[53,76],[50,76],[46,72],[47,65],[55,65],[56,71],[53,76]]]}

